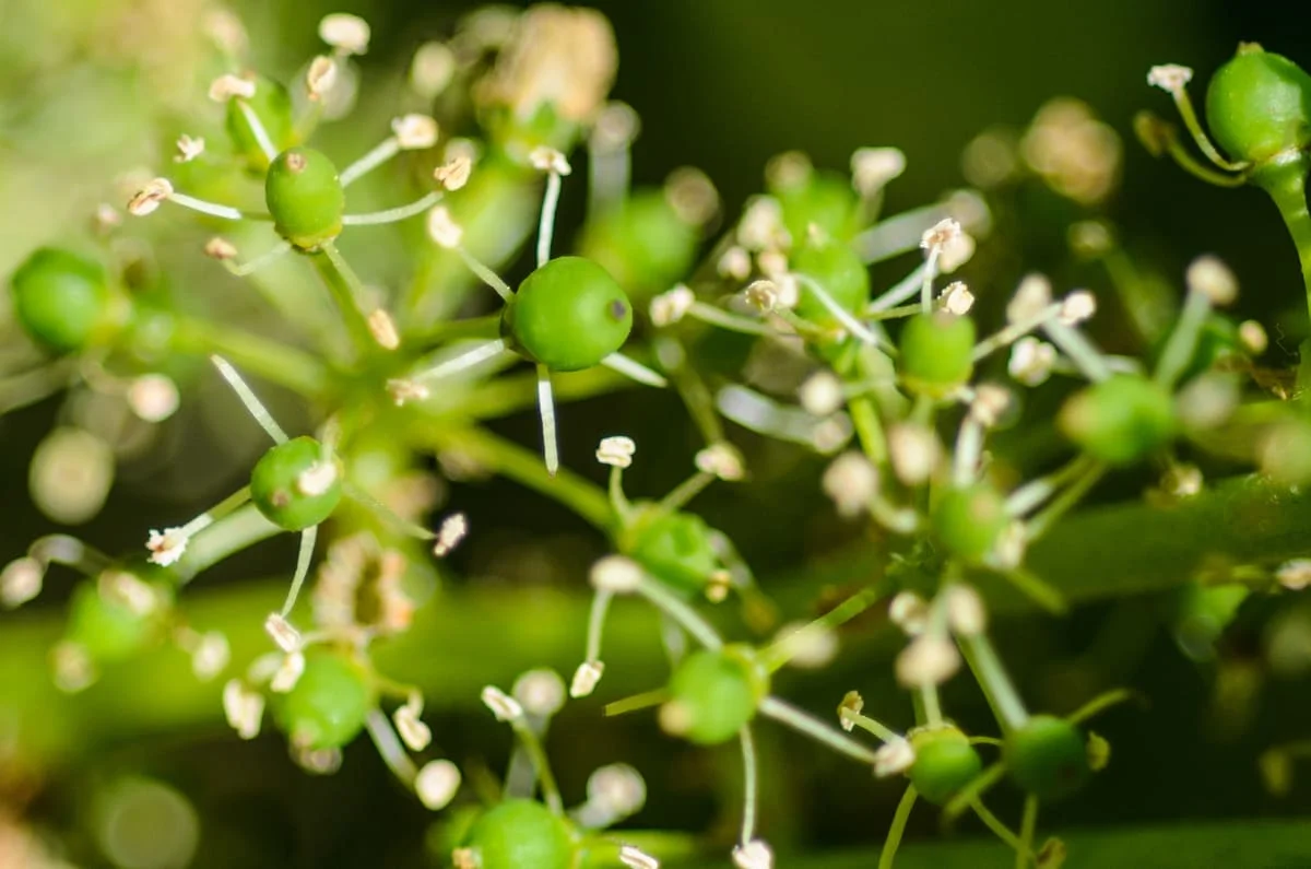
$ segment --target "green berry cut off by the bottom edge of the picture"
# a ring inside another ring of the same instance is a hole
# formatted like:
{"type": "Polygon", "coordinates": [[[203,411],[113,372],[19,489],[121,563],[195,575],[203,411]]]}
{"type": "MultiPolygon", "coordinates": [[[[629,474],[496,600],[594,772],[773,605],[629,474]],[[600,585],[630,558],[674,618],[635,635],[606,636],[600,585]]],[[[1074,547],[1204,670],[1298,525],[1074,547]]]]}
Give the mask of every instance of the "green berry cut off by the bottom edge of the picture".
{"type": "Polygon", "coordinates": [[[464,847],[479,869],[573,869],[578,858],[569,823],[530,799],[506,799],[479,815],[464,847]]]}

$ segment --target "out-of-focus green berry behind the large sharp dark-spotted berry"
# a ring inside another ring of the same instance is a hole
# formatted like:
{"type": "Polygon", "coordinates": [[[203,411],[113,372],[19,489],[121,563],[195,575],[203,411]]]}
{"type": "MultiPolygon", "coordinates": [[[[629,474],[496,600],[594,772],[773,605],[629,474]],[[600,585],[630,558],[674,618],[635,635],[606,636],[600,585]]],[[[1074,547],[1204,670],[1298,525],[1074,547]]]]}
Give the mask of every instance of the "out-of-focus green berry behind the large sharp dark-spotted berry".
{"type": "Polygon", "coordinates": [[[663,190],[640,190],[590,221],[579,251],[631,297],[645,299],[691,270],[697,239],[696,227],[678,217],[663,190]]]}

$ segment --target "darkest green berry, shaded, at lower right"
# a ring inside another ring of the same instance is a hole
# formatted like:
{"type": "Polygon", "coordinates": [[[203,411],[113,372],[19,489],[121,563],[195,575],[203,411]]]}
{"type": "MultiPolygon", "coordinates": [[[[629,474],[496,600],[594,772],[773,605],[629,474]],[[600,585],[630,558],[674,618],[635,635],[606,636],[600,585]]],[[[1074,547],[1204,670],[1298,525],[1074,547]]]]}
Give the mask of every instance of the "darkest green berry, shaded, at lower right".
{"type": "Polygon", "coordinates": [[[1083,734],[1054,715],[1034,715],[1008,734],[1002,759],[1011,780],[1042,801],[1068,797],[1092,774],[1083,734]]]}

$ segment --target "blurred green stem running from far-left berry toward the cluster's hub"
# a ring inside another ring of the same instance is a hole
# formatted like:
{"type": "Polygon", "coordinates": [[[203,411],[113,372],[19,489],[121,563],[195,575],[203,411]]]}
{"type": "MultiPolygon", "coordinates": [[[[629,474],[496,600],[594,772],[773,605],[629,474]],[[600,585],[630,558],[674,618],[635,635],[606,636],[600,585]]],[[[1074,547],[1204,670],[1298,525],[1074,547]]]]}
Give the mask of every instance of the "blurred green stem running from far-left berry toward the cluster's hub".
{"type": "Polygon", "coordinates": [[[321,396],[329,389],[328,366],[313,356],[222,323],[178,315],[174,319],[173,349],[206,356],[218,353],[237,368],[302,395],[321,396]]]}

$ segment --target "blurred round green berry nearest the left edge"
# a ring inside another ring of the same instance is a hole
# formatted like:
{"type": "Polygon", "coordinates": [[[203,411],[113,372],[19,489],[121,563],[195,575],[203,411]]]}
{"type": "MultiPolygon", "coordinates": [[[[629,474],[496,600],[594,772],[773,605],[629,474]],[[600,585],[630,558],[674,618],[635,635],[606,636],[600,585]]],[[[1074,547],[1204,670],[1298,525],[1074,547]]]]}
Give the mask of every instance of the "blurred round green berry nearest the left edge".
{"type": "Polygon", "coordinates": [[[105,269],[69,251],[38,248],[13,273],[9,286],[18,324],[51,350],[80,350],[111,326],[105,269]]]}

